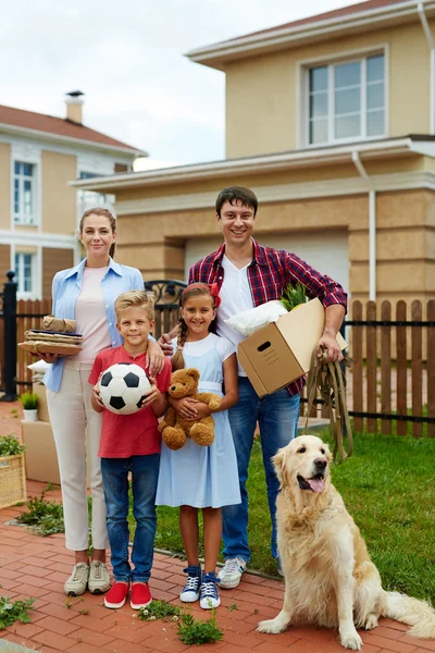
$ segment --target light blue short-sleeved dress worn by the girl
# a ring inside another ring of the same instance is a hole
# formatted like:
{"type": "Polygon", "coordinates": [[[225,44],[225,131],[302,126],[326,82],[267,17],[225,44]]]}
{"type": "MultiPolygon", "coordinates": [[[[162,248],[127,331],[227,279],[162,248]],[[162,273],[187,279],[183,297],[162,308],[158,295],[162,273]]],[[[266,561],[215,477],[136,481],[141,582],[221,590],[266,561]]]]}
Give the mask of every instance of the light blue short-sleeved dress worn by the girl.
{"type": "MultiPolygon", "coordinates": [[[[234,354],[226,338],[213,333],[183,348],[185,367],[199,370],[199,392],[222,396],[223,361],[234,354]]],[[[184,447],[174,452],[162,443],[156,505],[196,508],[220,508],[239,504],[236,451],[228,412],[214,412],[214,442],[199,446],[190,438],[184,447]]]]}

